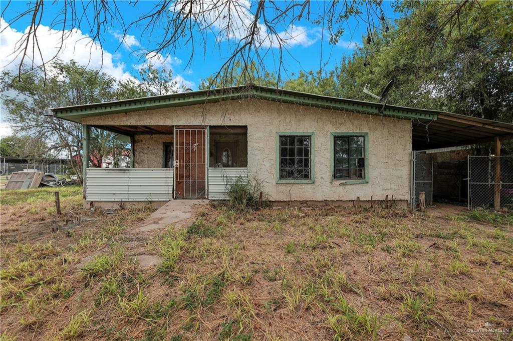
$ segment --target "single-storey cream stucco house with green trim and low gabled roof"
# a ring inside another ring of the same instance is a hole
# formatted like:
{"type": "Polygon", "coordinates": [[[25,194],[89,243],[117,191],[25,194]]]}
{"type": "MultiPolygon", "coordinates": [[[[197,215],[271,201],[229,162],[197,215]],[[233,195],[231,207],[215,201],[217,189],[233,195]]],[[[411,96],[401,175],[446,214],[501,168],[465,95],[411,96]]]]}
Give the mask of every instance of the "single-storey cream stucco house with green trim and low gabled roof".
{"type": "Polygon", "coordinates": [[[412,151],[500,141],[513,124],[436,110],[248,86],[55,108],[131,139],[131,168],[87,168],[85,199],[225,199],[257,177],[274,201],[396,200],[418,195],[412,151]]]}

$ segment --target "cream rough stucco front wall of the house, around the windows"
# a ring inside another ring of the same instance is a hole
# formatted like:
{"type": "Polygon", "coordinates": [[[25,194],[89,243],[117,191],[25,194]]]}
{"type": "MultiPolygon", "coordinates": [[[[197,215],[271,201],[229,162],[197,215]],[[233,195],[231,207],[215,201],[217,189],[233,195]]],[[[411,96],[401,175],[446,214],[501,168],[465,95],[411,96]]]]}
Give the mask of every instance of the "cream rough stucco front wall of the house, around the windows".
{"type": "MultiPolygon", "coordinates": [[[[85,118],[86,124],[247,125],[248,173],[264,181],[273,200],[409,199],[411,123],[409,120],[348,113],[265,100],[241,100],[85,118]],[[204,116],[203,116],[204,115],[204,116]],[[312,184],[277,184],[276,132],[315,133],[312,184]],[[331,181],[330,132],[369,133],[369,182],[331,181]],[[290,191],[290,195],[289,195],[290,191]]],[[[136,138],[135,166],[161,167],[166,135],[136,138]],[[154,139],[153,141],[150,141],[154,139]]],[[[169,136],[170,138],[170,136],[169,136]]]]}

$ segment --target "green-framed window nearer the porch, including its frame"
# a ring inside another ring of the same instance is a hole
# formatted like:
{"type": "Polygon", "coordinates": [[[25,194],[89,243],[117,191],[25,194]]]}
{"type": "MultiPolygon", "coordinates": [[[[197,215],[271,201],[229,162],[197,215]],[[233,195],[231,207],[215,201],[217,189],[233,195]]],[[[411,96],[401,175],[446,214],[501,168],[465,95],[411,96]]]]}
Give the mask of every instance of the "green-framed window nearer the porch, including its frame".
{"type": "Polygon", "coordinates": [[[314,133],[277,133],[278,183],[313,183],[314,133]]]}

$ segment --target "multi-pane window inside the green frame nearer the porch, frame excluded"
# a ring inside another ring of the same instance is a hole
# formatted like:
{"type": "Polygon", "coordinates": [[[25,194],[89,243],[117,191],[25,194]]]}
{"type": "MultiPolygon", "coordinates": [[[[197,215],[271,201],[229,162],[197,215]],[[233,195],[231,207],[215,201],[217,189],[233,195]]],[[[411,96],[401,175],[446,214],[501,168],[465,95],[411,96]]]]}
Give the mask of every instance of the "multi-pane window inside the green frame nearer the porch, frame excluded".
{"type": "Polygon", "coordinates": [[[280,135],[280,180],[311,179],[310,135],[280,135]]]}

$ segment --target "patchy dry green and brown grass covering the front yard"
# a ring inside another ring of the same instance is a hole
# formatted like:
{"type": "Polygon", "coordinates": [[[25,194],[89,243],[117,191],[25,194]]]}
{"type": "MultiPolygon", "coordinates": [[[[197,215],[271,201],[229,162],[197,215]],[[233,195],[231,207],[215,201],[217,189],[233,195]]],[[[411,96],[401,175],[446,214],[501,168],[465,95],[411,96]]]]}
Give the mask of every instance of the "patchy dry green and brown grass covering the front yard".
{"type": "Polygon", "coordinates": [[[139,233],[151,208],[84,210],[80,187],[69,190],[61,217],[52,191],[8,204],[2,192],[0,339],[480,339],[467,329],[510,328],[504,214],[216,204],[183,228],[139,233]],[[159,261],[144,268],[140,254],[159,261]]]}

